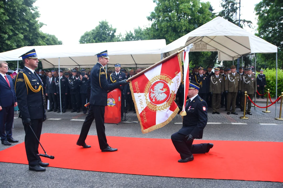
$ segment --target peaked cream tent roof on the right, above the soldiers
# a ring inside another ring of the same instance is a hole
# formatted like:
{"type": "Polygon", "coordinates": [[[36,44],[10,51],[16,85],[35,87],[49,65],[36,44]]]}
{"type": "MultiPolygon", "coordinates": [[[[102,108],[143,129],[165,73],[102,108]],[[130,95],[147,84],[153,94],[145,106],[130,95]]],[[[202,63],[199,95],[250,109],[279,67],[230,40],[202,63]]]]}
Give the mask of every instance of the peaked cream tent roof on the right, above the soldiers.
{"type": "Polygon", "coordinates": [[[162,48],[173,54],[193,43],[191,51],[217,51],[219,61],[232,61],[250,53],[276,53],[277,47],[218,16],[162,48]]]}

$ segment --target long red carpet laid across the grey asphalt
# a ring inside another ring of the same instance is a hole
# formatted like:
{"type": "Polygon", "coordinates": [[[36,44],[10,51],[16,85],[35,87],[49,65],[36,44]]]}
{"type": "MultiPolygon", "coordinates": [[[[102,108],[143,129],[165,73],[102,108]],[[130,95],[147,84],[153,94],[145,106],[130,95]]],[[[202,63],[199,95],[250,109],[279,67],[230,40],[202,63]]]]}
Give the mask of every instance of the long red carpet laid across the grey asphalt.
{"type": "MultiPolygon", "coordinates": [[[[178,163],[180,155],[170,139],[108,136],[117,152],[101,152],[97,136],[87,137],[89,149],[77,146],[77,139],[78,135],[42,134],[44,149],[55,159],[41,159],[50,167],[88,171],[283,182],[281,142],[196,140],[194,143],[212,142],[214,147],[209,153],[195,154],[192,162],[178,163]]],[[[40,152],[43,154],[41,148],[40,152]]],[[[0,151],[0,161],[27,164],[24,143],[0,151]]]]}

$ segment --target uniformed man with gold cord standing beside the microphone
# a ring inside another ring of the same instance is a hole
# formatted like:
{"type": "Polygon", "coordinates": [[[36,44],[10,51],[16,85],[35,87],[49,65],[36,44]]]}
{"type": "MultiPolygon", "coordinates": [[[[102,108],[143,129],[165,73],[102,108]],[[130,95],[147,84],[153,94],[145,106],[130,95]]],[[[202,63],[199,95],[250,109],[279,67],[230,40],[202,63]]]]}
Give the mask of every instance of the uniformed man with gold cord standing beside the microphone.
{"type": "Polygon", "coordinates": [[[19,102],[20,118],[22,118],[25,129],[25,151],[29,162],[29,170],[45,171],[44,167],[49,164],[41,161],[38,155],[39,143],[37,141],[37,138],[40,140],[42,122],[46,120],[43,84],[34,71],[39,61],[35,49],[20,57],[22,57],[25,67],[16,78],[15,88],[19,102]]]}

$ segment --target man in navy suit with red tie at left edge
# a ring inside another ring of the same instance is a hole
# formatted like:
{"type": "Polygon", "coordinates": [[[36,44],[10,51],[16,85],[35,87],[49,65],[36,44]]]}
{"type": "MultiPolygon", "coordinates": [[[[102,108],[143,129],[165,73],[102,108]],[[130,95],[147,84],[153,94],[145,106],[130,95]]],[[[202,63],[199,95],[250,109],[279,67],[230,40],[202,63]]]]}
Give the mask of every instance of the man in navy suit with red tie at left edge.
{"type": "Polygon", "coordinates": [[[18,103],[12,78],[6,72],[8,64],[0,61],[0,137],[3,145],[11,145],[10,142],[18,142],[12,138],[14,107],[18,103]]]}

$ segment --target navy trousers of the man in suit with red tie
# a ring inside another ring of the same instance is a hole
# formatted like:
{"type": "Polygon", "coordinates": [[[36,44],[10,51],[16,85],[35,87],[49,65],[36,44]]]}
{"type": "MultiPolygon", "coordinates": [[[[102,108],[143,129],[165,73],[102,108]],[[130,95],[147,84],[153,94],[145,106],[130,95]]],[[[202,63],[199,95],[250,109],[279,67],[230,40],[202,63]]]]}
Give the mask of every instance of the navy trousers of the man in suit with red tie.
{"type": "Polygon", "coordinates": [[[1,140],[12,138],[12,126],[14,122],[14,105],[3,107],[0,111],[0,137],[1,140]],[[5,133],[6,132],[6,133],[5,133]]]}

